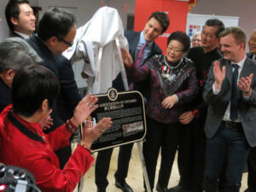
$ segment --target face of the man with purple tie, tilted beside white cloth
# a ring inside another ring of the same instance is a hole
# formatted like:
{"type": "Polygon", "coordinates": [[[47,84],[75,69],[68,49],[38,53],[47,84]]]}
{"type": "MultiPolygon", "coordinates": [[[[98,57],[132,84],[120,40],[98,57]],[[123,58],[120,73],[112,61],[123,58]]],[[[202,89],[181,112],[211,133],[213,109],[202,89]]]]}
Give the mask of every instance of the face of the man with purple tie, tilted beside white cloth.
{"type": "Polygon", "coordinates": [[[150,20],[148,20],[143,30],[143,36],[146,42],[153,42],[155,38],[160,36],[162,30],[163,27],[160,25],[160,22],[152,17],[150,20]]]}

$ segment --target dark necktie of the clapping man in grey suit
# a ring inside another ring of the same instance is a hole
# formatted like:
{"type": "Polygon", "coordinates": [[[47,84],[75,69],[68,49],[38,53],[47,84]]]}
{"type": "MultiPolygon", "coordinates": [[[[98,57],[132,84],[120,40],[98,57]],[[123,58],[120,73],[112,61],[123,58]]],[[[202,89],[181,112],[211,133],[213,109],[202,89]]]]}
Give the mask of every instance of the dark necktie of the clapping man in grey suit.
{"type": "Polygon", "coordinates": [[[237,88],[237,78],[238,78],[238,68],[237,64],[233,64],[232,67],[235,68],[233,72],[233,81],[232,81],[232,93],[231,93],[231,104],[230,104],[230,119],[236,121],[238,116],[238,88],[237,88]]]}

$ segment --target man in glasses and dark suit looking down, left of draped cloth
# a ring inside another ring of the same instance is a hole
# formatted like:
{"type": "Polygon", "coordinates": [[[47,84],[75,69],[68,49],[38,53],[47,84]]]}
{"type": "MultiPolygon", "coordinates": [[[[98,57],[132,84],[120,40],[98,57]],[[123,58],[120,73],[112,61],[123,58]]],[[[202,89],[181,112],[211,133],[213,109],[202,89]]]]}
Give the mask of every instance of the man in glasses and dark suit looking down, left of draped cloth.
{"type": "MultiPolygon", "coordinates": [[[[49,68],[61,84],[61,92],[53,108],[53,127],[49,131],[63,124],[73,116],[73,110],[81,100],[78,86],[74,79],[73,68],[61,53],[73,45],[76,35],[75,16],[64,9],[49,9],[38,23],[38,35],[27,40],[42,58],[38,63],[49,68]]],[[[57,151],[61,168],[66,164],[71,147],[67,146],[57,151]]]]}

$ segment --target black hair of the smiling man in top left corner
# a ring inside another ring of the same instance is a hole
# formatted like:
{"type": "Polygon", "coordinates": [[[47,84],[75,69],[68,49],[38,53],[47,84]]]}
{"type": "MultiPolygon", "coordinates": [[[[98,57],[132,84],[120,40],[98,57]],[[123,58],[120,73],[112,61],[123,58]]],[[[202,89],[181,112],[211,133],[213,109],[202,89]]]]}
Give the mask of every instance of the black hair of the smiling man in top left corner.
{"type": "Polygon", "coordinates": [[[15,19],[19,20],[20,15],[20,4],[30,4],[27,0],[9,0],[9,3],[7,3],[5,7],[5,18],[7,21],[7,24],[9,26],[9,30],[11,32],[15,31],[15,26],[11,21],[11,17],[14,17],[15,19]]]}

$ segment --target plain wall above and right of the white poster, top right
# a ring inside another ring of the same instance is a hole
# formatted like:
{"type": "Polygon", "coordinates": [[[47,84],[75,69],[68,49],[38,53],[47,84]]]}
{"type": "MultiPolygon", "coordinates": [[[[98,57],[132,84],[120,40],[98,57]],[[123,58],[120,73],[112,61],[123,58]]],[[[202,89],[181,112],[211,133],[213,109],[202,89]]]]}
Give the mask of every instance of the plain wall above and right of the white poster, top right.
{"type": "Polygon", "coordinates": [[[255,0],[201,0],[191,14],[238,16],[238,26],[247,34],[248,39],[256,28],[255,6],[255,0]]]}

